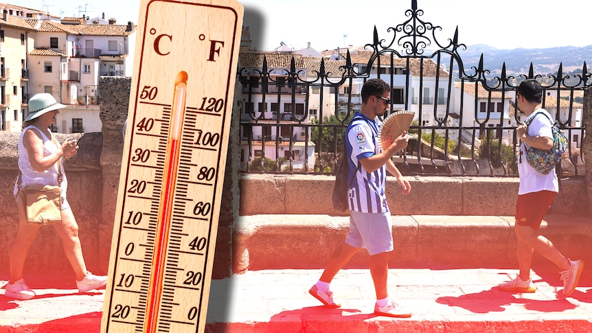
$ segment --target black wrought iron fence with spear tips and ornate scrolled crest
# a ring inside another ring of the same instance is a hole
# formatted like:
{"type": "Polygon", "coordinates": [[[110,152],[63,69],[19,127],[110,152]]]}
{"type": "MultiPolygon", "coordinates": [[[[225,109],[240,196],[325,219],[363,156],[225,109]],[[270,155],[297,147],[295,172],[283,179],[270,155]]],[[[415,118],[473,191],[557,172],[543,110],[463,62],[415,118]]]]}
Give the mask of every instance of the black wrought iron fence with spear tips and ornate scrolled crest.
{"type": "Polygon", "coordinates": [[[289,64],[286,55],[242,54],[242,170],[332,174],[345,150],[345,128],[361,105],[361,85],[382,78],[391,86],[383,117],[415,112],[409,146],[393,158],[402,174],[516,176],[515,129],[524,120],[516,89],[535,78],[545,90],[543,107],[570,140],[563,170],[582,176],[584,108],[574,99],[592,85],[586,62],[576,75],[566,75],[560,65],[556,74],[542,76],[531,63],[528,73],[513,76],[504,63],[492,76],[482,54],[477,67],[466,69],[458,30],[440,43],[434,33],[440,27],[420,19],[417,1],[405,15],[409,19],[390,27],[387,39],[375,27],[363,50],[337,49],[326,58],[290,55],[289,64]]]}

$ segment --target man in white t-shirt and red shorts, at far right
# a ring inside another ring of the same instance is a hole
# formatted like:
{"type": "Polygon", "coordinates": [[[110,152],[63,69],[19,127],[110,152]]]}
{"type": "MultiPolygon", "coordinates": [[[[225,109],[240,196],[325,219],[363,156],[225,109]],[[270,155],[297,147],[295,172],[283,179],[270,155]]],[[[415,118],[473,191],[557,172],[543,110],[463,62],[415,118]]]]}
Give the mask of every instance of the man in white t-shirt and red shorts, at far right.
{"type": "Polygon", "coordinates": [[[549,113],[542,108],[542,97],[543,87],[534,79],[525,80],[518,87],[516,105],[527,117],[526,122],[516,128],[516,137],[522,141],[518,163],[520,185],[514,225],[519,274],[516,279],[500,284],[499,289],[535,292],[536,287],[530,277],[530,264],[533,251],[537,251],[559,267],[563,294],[568,296],[578,285],[584,262],[567,259],[551,241],[538,233],[543,216],[559,192],[557,175],[555,170],[550,170],[548,174],[539,172],[526,161],[530,147],[539,150],[553,147],[553,124],[549,113]]]}

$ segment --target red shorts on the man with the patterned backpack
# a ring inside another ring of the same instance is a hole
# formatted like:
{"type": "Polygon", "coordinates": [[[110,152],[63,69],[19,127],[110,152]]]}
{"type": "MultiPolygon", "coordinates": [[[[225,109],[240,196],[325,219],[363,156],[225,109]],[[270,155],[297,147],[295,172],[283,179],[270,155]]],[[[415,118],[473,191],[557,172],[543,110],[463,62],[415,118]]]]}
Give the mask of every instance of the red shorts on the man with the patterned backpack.
{"type": "Polygon", "coordinates": [[[557,192],[539,191],[522,194],[516,202],[516,225],[538,229],[557,192]]]}

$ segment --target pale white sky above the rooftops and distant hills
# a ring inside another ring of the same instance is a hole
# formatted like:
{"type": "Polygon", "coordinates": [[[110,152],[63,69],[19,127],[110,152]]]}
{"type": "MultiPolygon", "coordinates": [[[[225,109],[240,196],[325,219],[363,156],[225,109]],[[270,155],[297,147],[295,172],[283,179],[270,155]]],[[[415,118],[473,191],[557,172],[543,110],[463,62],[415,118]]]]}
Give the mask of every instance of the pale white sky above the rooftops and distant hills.
{"type": "MultiPolygon", "coordinates": [[[[24,7],[43,9],[56,16],[114,17],[117,24],[137,24],[141,0],[12,0],[24,7]]],[[[144,0],[143,0],[144,1],[144,0]]],[[[147,1],[147,0],[146,0],[147,1]]],[[[215,0],[214,0],[215,1],[215,0]]],[[[10,0],[5,0],[11,3],[10,0]]],[[[590,0],[417,0],[420,19],[442,27],[435,32],[447,43],[456,27],[459,43],[486,44],[497,49],[548,48],[592,45],[590,0]],[[586,13],[586,14],[584,14],[586,13]],[[588,15],[588,16],[587,16],[588,15]]],[[[308,43],[323,51],[372,43],[374,26],[390,41],[389,27],[407,21],[411,0],[242,0],[244,26],[258,50],[280,43],[304,49],[308,43]]]]}

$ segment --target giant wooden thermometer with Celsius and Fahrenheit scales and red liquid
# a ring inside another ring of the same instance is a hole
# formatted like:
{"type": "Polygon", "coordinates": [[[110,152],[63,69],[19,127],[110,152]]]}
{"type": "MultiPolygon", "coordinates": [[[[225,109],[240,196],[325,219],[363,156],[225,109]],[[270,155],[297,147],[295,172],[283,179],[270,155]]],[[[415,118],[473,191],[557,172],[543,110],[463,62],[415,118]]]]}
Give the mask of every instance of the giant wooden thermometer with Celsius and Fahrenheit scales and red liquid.
{"type": "Polygon", "coordinates": [[[141,0],[102,333],[205,330],[242,14],[141,0]]]}

